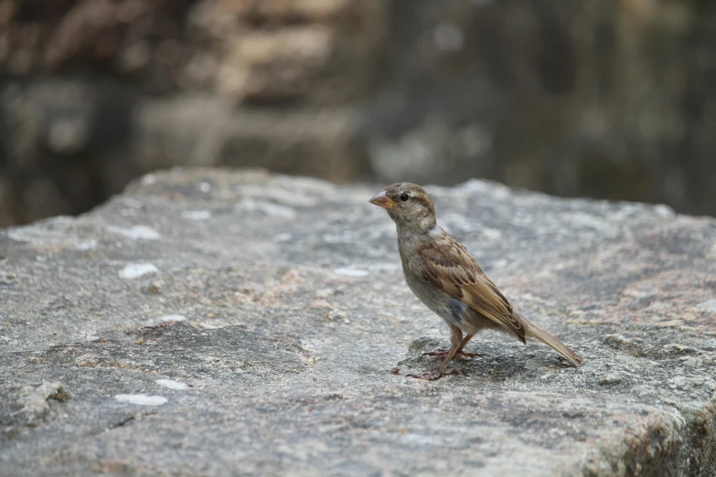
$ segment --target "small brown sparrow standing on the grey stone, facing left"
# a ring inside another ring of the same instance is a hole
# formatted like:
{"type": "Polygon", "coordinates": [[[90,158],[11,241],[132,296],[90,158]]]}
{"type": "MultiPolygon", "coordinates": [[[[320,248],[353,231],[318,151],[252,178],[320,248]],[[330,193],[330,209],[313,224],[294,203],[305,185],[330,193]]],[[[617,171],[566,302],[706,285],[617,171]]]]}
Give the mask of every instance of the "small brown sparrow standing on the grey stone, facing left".
{"type": "Polygon", "coordinates": [[[479,356],[463,349],[484,329],[511,334],[522,343],[527,337],[537,338],[572,365],[582,365],[582,358],[569,346],[516,312],[467,249],[437,225],[433,201],[420,185],[389,185],[369,202],[385,208],[398,228],[402,270],[411,291],[450,326],[450,349],[425,354],[442,360],[440,366],[410,376],[433,380],[457,373],[448,364],[455,355],[479,356]]]}

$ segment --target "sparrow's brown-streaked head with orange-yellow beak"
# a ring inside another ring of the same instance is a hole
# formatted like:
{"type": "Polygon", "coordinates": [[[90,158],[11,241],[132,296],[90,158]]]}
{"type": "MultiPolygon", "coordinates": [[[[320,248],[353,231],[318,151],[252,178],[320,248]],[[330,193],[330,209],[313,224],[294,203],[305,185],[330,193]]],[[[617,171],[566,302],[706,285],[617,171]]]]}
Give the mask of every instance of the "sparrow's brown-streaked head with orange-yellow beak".
{"type": "Polygon", "coordinates": [[[420,185],[409,182],[391,184],[369,202],[385,208],[399,228],[427,232],[435,226],[435,206],[420,185]]]}

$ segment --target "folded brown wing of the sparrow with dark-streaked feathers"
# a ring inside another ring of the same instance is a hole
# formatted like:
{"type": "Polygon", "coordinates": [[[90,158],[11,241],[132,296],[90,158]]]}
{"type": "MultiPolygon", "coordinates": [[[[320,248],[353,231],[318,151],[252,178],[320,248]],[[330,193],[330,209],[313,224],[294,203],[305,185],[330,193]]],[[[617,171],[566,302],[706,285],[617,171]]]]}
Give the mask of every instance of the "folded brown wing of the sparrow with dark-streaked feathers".
{"type": "Polygon", "coordinates": [[[411,261],[414,271],[421,273],[433,286],[465,302],[525,343],[525,325],[514,313],[508,299],[454,238],[445,234],[433,240],[411,261]]]}

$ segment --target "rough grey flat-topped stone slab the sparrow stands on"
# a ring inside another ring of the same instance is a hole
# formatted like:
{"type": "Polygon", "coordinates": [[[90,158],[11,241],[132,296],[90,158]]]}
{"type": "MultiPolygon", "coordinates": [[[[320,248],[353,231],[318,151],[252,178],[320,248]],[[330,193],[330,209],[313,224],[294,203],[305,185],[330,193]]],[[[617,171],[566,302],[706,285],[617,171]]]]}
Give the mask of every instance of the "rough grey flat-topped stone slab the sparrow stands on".
{"type": "Polygon", "coordinates": [[[485,334],[463,374],[406,377],[448,338],[379,185],[148,175],[0,232],[2,474],[714,475],[716,221],[428,189],[585,366],[485,334]]]}

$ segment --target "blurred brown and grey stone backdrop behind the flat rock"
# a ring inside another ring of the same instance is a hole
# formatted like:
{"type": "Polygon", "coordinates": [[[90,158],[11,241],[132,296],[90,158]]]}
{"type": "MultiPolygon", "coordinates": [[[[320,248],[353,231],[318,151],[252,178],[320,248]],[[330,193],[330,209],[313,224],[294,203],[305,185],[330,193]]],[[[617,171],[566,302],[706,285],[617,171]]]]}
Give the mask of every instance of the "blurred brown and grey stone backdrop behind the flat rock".
{"type": "Polygon", "coordinates": [[[716,215],[716,2],[0,0],[0,227],[173,165],[716,215]]]}

